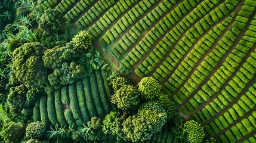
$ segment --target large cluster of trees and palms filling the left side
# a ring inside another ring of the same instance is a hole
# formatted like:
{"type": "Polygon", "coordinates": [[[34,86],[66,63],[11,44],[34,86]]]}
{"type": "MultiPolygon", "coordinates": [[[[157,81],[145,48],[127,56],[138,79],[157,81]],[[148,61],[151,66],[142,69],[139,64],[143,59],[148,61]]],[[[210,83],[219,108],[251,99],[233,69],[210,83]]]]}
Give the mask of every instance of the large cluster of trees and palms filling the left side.
{"type": "MultiPolygon", "coordinates": [[[[90,49],[91,36],[86,31],[73,36],[74,30],[67,35],[69,24],[63,13],[51,8],[43,13],[32,1],[18,5],[33,7],[27,13],[24,13],[24,8],[18,9],[16,21],[5,27],[7,39],[0,44],[1,102],[6,105],[1,112],[0,127],[1,138],[6,142],[16,142],[9,139],[11,128],[24,130],[26,123],[32,120],[32,108],[38,98],[61,85],[89,76],[104,64],[101,57],[90,49]]],[[[33,133],[38,132],[26,134],[36,136],[33,133]]],[[[19,139],[23,134],[10,138],[19,139]]]]}

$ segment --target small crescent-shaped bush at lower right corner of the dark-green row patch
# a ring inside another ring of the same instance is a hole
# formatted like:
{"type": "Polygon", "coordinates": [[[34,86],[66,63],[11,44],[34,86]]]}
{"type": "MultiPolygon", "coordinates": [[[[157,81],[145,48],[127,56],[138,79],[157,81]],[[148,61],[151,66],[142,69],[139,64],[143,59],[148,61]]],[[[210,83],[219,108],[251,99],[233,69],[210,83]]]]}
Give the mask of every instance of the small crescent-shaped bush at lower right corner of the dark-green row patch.
{"type": "Polygon", "coordinates": [[[103,119],[103,132],[105,134],[110,134],[111,132],[111,126],[113,125],[113,122],[120,116],[119,112],[111,111],[109,114],[107,114],[103,119]]]}

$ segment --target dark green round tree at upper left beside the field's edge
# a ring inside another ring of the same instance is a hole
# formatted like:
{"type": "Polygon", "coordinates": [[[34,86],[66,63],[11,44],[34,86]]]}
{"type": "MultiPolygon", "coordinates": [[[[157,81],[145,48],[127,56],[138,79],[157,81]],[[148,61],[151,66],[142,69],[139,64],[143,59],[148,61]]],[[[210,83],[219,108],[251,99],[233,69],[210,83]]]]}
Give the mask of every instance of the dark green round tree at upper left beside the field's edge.
{"type": "Polygon", "coordinates": [[[38,22],[39,28],[44,30],[48,35],[54,32],[63,33],[66,25],[66,19],[59,10],[48,8],[44,11],[38,22]]]}

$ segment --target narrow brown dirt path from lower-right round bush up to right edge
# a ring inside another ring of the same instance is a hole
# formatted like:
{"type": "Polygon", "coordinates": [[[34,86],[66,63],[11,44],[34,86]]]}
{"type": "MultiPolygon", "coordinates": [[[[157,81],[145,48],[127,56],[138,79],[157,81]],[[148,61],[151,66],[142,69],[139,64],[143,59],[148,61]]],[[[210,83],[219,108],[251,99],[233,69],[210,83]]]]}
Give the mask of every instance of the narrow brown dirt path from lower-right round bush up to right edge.
{"type": "MultiPolygon", "coordinates": [[[[255,46],[256,48],[256,46],[255,46]]],[[[254,49],[255,49],[254,48],[254,49]]],[[[215,114],[215,116],[211,117],[211,119],[207,120],[206,122],[202,123],[202,126],[205,126],[209,123],[211,123],[215,118],[217,118],[218,116],[221,116],[223,113],[225,113],[229,108],[232,107],[232,105],[234,105],[236,102],[238,102],[238,100],[240,100],[240,97],[242,97],[243,94],[245,94],[245,92],[248,90],[248,88],[250,86],[252,86],[252,84],[254,84],[256,81],[256,74],[254,75],[254,77],[246,84],[245,88],[242,89],[242,91],[239,93],[238,97],[236,97],[232,102],[229,103],[229,105],[227,105],[225,108],[223,108],[223,110],[221,110],[219,113],[215,114]]]]}

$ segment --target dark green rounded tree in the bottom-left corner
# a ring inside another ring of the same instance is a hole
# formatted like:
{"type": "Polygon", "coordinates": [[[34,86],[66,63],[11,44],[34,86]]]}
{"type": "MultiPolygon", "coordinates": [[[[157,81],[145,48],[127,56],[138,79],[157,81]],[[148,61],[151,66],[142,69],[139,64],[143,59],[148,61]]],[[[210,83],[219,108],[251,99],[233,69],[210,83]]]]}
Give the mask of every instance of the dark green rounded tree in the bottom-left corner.
{"type": "Polygon", "coordinates": [[[3,126],[0,136],[4,142],[19,142],[25,135],[25,131],[23,123],[9,122],[3,126]]]}

